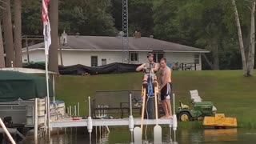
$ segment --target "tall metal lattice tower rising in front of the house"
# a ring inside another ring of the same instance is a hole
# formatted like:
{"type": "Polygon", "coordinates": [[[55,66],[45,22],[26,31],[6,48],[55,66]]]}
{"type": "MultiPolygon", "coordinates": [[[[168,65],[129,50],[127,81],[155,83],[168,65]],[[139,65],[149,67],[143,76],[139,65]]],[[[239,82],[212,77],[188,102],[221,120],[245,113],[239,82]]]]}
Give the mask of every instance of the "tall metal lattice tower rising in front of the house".
{"type": "Polygon", "coordinates": [[[122,0],[122,62],[129,63],[128,0],[122,0]]]}

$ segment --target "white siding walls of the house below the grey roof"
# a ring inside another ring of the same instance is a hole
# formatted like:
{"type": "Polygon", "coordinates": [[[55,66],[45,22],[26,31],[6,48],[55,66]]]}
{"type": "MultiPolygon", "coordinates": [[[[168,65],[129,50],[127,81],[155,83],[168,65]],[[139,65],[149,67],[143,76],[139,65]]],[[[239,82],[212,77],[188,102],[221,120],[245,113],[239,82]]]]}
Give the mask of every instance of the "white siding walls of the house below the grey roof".
{"type": "MultiPolygon", "coordinates": [[[[140,64],[147,61],[148,52],[138,52],[138,62],[130,62],[133,64],[140,64]]],[[[167,63],[174,62],[194,62],[194,54],[197,53],[164,53],[167,63]]],[[[75,51],[75,50],[62,50],[63,66],[72,66],[82,64],[84,66],[91,66],[91,56],[98,57],[98,66],[102,66],[102,58],[106,59],[106,64],[113,62],[122,62],[122,51],[75,51]]],[[[26,53],[22,53],[22,60],[26,62],[26,53]]],[[[30,51],[30,62],[45,61],[44,50],[30,51]]],[[[61,65],[60,55],[58,54],[58,63],[61,65]]],[[[201,54],[199,54],[199,64],[197,70],[202,70],[201,54]]],[[[194,68],[193,68],[194,70],[194,68]]]]}

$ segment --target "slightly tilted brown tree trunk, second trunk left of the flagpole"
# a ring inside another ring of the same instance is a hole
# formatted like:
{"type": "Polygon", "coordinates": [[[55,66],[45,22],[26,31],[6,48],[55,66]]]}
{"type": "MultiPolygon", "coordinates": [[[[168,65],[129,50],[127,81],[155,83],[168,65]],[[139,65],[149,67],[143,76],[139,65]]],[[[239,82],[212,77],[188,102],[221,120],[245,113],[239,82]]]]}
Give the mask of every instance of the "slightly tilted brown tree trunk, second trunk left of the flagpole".
{"type": "Polygon", "coordinates": [[[10,14],[10,0],[3,0],[5,2],[5,10],[3,10],[3,30],[5,38],[6,47],[6,66],[10,67],[11,63],[14,62],[14,40],[13,40],[13,30],[11,23],[10,14]]]}

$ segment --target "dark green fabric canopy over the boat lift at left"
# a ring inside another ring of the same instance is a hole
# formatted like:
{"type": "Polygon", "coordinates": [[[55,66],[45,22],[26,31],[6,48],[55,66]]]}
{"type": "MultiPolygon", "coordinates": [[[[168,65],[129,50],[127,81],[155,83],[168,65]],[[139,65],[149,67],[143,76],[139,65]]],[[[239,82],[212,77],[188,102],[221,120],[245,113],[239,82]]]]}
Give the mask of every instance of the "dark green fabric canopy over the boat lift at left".
{"type": "MultiPolygon", "coordinates": [[[[46,78],[34,74],[0,70],[0,102],[17,101],[32,98],[45,98],[46,78]]],[[[49,96],[53,97],[53,86],[49,82],[49,96]]]]}

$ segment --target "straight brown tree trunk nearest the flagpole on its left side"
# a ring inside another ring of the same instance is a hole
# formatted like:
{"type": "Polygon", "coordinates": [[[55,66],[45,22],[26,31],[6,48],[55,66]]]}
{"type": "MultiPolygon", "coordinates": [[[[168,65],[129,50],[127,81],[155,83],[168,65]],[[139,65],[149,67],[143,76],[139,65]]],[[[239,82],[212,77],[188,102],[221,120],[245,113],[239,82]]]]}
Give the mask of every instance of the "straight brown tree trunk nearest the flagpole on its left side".
{"type": "Polygon", "coordinates": [[[14,1],[14,49],[15,66],[22,67],[22,2],[14,1]]]}

